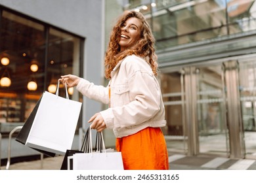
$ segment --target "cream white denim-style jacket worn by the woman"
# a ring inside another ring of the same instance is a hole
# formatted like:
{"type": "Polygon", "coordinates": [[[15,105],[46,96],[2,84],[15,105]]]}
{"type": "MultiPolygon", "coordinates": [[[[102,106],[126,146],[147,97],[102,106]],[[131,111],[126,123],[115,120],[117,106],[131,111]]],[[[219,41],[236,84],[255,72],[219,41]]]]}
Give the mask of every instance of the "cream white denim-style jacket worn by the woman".
{"type": "Polygon", "coordinates": [[[89,99],[106,104],[110,101],[110,108],[100,114],[106,127],[113,129],[117,138],[132,135],[146,127],[166,125],[160,86],[144,59],[127,56],[119,61],[111,76],[106,87],[81,78],[77,90],[89,99]]]}

